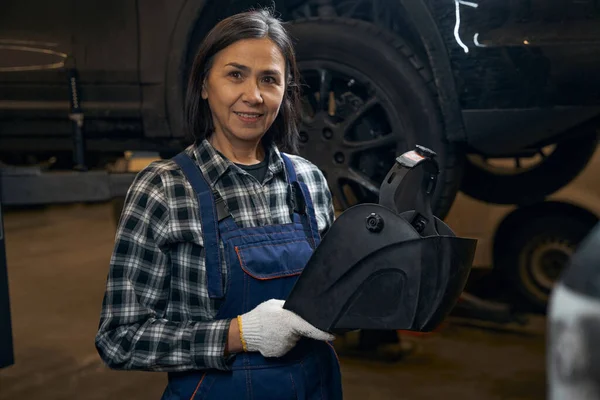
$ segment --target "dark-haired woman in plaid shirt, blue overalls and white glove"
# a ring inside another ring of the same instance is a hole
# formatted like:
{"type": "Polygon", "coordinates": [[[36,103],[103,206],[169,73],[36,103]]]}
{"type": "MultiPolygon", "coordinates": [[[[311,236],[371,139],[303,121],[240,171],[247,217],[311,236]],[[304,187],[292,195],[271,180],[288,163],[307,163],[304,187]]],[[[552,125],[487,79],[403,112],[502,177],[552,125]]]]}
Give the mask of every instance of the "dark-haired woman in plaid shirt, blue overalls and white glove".
{"type": "Polygon", "coordinates": [[[322,173],[294,151],[299,74],[268,11],[205,38],[186,97],[195,143],[127,195],[96,347],[115,369],[169,372],[163,399],[339,399],[333,336],[282,308],[333,222],[322,173]]]}

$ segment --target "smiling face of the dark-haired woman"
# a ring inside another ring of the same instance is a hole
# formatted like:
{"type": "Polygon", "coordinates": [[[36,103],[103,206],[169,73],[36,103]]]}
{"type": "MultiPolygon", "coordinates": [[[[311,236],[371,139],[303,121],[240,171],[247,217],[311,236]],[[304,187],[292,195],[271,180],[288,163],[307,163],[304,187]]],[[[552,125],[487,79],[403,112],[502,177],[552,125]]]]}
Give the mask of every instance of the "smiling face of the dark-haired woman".
{"type": "Polygon", "coordinates": [[[215,55],[202,88],[216,135],[257,143],[279,113],[285,59],[268,38],[244,39],[215,55]]]}

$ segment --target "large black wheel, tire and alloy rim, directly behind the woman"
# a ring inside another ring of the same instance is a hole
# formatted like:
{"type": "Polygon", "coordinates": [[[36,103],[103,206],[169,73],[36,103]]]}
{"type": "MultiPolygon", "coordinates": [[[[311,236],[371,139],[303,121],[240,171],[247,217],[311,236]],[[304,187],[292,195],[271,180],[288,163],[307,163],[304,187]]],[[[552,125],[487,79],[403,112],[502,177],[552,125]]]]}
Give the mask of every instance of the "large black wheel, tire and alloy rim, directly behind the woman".
{"type": "Polygon", "coordinates": [[[401,38],[367,22],[310,18],[289,29],[303,80],[300,155],[323,171],[336,208],[377,202],[395,158],[419,144],[438,155],[432,206],[443,218],[462,157],[444,139],[427,68],[401,38]]]}

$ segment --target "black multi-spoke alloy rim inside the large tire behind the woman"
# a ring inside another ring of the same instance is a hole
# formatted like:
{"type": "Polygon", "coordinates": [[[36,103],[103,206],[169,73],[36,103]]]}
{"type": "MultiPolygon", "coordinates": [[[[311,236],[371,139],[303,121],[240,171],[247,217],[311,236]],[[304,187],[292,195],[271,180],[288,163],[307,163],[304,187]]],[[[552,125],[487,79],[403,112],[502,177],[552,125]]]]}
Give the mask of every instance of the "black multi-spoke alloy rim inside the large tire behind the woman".
{"type": "Polygon", "coordinates": [[[377,201],[402,137],[373,85],[343,66],[309,62],[300,126],[300,155],[327,178],[339,208],[377,201]],[[362,83],[361,83],[362,82],[362,83]]]}

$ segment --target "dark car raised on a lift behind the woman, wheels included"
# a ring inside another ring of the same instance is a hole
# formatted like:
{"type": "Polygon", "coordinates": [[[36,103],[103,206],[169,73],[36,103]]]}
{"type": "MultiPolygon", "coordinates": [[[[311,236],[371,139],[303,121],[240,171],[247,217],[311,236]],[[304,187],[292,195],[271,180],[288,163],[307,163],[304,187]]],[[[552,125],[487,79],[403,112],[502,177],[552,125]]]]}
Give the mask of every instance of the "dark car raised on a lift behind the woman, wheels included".
{"type": "MultiPolygon", "coordinates": [[[[199,43],[256,6],[6,0],[0,160],[101,169],[128,150],[175,154],[189,143],[183,98],[199,43]]],[[[305,83],[301,153],[324,171],[338,208],[376,199],[395,157],[416,144],[438,154],[440,217],[459,189],[500,204],[543,198],[593,153],[596,0],[279,0],[276,9],[305,83]],[[497,170],[491,158],[517,162],[497,170]]]]}

